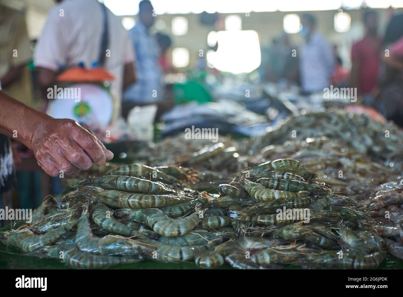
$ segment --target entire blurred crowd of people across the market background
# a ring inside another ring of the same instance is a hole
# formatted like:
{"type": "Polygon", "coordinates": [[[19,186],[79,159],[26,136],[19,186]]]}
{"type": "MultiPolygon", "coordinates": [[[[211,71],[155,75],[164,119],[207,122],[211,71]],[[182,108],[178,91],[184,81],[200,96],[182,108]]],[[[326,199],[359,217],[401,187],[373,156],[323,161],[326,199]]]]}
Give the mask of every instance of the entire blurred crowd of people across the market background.
{"type": "MultiPolygon", "coordinates": [[[[157,104],[162,111],[172,107],[163,80],[164,73],[172,70],[168,59],[171,40],[162,32],[150,33],[156,17],[149,0],[139,2],[137,21],[129,31],[96,0],[56,2],[37,42],[28,38],[23,12],[0,4],[0,30],[5,36],[0,45],[4,51],[0,81],[6,93],[45,110],[46,90],[56,84],[58,74],[72,67],[101,67],[116,77],[111,92],[123,116],[135,105],[157,104]]],[[[365,36],[351,48],[349,69],[337,45],[318,32],[316,17],[301,15],[303,44],[296,46],[289,34],[282,33],[262,48],[261,80],[297,85],[303,94],[323,92],[330,85],[357,88],[360,102],[403,125],[403,15],[393,16],[385,32],[380,32],[374,10],[363,13],[362,23],[365,36]]]]}

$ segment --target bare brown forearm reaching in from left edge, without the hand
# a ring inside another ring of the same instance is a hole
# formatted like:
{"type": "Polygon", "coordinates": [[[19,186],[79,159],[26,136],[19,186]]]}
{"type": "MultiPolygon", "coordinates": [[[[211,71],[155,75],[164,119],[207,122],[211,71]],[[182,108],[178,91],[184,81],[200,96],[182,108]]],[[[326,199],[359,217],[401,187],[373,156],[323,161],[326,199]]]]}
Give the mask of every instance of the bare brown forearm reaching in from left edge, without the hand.
{"type": "Polygon", "coordinates": [[[0,133],[14,137],[31,148],[35,130],[41,129],[50,116],[27,107],[0,91],[0,133]]]}

